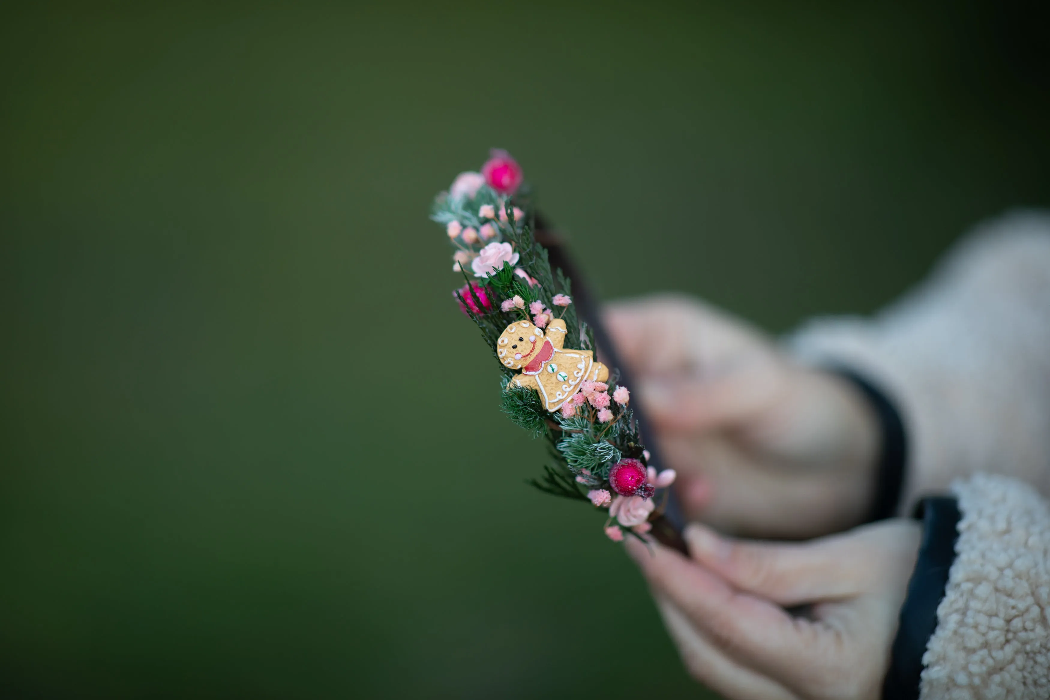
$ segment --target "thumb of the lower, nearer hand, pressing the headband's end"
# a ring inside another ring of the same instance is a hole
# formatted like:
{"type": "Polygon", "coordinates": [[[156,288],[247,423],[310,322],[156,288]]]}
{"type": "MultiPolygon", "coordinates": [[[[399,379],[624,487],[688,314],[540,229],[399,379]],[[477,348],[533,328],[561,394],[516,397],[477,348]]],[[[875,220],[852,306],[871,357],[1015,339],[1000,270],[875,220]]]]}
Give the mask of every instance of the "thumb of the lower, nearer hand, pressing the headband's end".
{"type": "Polygon", "coordinates": [[[735,588],[781,606],[844,598],[863,591],[872,558],[841,536],[804,543],[742,542],[692,524],[686,542],[693,558],[735,588]]]}

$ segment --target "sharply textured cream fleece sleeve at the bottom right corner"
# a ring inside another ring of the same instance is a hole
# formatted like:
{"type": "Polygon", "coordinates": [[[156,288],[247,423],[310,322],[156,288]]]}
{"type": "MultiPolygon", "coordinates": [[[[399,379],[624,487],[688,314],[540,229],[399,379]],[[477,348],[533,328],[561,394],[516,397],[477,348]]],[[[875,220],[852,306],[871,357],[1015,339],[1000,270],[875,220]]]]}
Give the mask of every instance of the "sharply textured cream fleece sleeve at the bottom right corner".
{"type": "Polygon", "coordinates": [[[952,486],[959,540],[922,700],[1050,698],[1050,510],[1027,484],[979,474],[952,486]]]}

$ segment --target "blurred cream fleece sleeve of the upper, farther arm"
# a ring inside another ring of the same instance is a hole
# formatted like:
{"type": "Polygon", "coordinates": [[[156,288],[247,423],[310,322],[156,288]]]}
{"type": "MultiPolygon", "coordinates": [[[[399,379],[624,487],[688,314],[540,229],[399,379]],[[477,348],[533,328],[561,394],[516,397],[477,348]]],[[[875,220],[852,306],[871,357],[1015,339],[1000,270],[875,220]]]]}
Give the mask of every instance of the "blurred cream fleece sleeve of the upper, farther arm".
{"type": "Polygon", "coordinates": [[[902,512],[979,470],[1050,494],[1050,214],[984,224],[874,319],[817,319],[789,343],[894,400],[909,441],[902,512]]]}

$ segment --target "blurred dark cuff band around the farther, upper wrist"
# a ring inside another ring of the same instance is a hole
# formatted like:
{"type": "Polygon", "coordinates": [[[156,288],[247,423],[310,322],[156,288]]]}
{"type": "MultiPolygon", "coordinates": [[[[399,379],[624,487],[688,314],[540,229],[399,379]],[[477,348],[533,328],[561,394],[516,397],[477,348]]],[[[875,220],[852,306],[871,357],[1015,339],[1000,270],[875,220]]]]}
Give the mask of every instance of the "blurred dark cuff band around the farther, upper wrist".
{"type": "Polygon", "coordinates": [[[904,467],[908,453],[904,422],[894,403],[872,382],[845,367],[832,367],[839,377],[849,381],[867,399],[879,421],[881,433],[879,461],[876,466],[875,496],[865,523],[884,521],[897,515],[901,489],[904,487],[904,467]]]}

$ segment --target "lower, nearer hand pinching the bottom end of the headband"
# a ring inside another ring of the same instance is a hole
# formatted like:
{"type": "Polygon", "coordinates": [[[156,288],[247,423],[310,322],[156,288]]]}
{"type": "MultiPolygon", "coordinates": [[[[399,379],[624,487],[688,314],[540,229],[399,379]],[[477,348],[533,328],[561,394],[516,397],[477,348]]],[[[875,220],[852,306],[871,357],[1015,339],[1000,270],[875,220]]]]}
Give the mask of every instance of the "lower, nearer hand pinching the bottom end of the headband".
{"type": "Polygon", "coordinates": [[[729,699],[881,697],[921,528],[883,521],[800,544],[690,526],[695,560],[627,543],[696,680],[729,699]],[[808,617],[783,607],[811,603],[808,617]]]}

